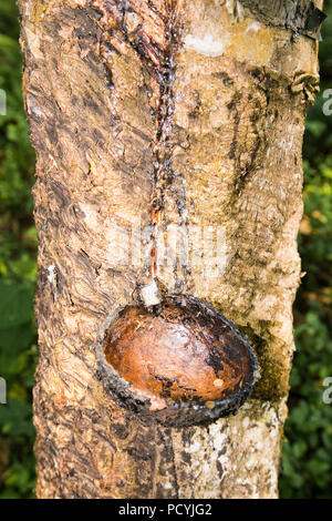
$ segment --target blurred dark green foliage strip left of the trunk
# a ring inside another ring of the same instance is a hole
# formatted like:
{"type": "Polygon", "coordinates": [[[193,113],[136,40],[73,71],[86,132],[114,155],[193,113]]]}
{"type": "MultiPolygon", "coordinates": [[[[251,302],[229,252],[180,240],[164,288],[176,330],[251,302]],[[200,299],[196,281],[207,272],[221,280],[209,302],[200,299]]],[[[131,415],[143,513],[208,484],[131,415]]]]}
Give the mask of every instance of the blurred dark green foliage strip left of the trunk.
{"type": "Polygon", "coordinates": [[[32,219],[31,149],[21,94],[21,54],[14,1],[0,0],[0,498],[30,498],[34,487],[31,389],[37,359],[33,320],[37,233],[32,219]]]}

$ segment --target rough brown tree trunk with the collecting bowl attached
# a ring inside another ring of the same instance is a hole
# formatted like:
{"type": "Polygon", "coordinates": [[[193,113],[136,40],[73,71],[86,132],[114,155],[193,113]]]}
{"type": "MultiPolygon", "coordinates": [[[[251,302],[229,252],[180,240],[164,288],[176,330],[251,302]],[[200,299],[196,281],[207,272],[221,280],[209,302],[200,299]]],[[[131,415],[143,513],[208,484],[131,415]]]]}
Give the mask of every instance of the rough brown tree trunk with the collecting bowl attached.
{"type": "Polygon", "coordinates": [[[277,497],[320,2],[19,4],[38,153],[38,496],[277,497]],[[156,286],[248,337],[260,378],[235,416],[159,421],[156,399],[143,418],[108,385],[104,333],[156,286]]]}

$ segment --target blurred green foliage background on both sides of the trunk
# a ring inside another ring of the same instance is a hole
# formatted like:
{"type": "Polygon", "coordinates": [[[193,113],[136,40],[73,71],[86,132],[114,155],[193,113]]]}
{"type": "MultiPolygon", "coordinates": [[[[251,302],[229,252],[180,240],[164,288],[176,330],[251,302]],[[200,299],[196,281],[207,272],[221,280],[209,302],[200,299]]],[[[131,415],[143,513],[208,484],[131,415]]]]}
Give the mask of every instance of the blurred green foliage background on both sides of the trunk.
{"type": "MultiPolygon", "coordinates": [[[[324,11],[330,17],[320,45],[321,92],[309,111],[303,145],[305,211],[299,249],[307,275],[294,304],[297,354],[281,498],[332,498],[332,403],[322,399],[323,380],[332,377],[332,102],[326,105],[324,98],[332,89],[332,0],[324,11]],[[324,103],[331,115],[324,115],[324,103]]],[[[8,403],[0,405],[0,498],[33,498],[35,481],[34,152],[23,112],[18,39],[14,0],[0,0],[0,90],[7,93],[7,115],[0,115],[0,377],[8,384],[8,403]]]]}

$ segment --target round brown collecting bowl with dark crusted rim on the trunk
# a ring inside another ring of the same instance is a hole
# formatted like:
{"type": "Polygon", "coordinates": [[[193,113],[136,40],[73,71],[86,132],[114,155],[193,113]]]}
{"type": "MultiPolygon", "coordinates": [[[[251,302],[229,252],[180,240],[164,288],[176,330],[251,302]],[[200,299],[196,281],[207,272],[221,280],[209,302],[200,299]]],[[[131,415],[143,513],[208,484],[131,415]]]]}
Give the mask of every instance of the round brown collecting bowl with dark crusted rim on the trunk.
{"type": "Polygon", "coordinates": [[[111,318],[98,353],[103,377],[143,420],[188,426],[235,413],[258,376],[248,341],[211,306],[168,295],[111,318]],[[101,349],[101,348],[100,348],[101,349]]]}

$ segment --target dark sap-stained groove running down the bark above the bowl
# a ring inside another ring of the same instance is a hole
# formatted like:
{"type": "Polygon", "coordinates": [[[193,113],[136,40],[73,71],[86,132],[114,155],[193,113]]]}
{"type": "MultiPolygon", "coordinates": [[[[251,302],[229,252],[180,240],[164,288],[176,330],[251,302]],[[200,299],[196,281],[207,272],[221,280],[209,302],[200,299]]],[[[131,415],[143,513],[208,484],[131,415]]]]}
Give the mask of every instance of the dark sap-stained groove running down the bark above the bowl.
{"type": "Polygon", "coordinates": [[[157,234],[163,224],[167,186],[174,180],[172,168],[172,140],[176,69],[176,51],[180,40],[180,12],[184,0],[144,2],[94,1],[103,13],[101,23],[106,28],[101,54],[112,82],[112,53],[125,52],[128,45],[142,64],[154,119],[152,196],[151,196],[151,257],[149,282],[157,275],[157,234]],[[125,47],[124,47],[125,45],[125,47]]]}

